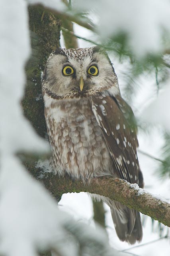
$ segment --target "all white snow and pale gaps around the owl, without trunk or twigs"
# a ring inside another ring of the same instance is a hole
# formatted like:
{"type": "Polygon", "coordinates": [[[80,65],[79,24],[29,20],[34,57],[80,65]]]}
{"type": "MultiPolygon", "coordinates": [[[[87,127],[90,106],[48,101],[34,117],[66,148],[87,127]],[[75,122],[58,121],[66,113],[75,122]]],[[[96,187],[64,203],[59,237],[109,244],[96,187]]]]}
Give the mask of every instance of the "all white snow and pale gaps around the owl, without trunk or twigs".
{"type": "MultiPolygon", "coordinates": [[[[61,214],[55,201],[35,180],[32,180],[16,156],[16,152],[49,152],[49,147],[40,139],[31,124],[24,118],[21,109],[21,99],[24,95],[25,63],[31,53],[27,4],[41,2],[50,8],[61,12],[66,7],[59,0],[1,0],[0,1],[0,254],[9,256],[36,256],[37,250],[47,250],[51,247],[64,255],[78,255],[76,246],[67,234],[71,231],[69,223],[74,224],[80,234],[93,236],[97,241],[107,245],[106,238],[99,236],[100,232],[92,231],[83,226],[88,223],[94,226],[92,216],[92,202],[85,193],[63,195],[59,208],[69,213],[61,214]],[[20,15],[19,15],[20,14],[20,15]],[[10,75],[9,75],[10,74],[10,75]],[[45,210],[46,209],[46,210],[45,210]],[[67,227],[66,227],[67,226],[67,227]],[[70,230],[69,230],[70,228],[70,230]],[[67,247],[65,247],[67,237],[67,247]]],[[[75,33],[103,42],[106,36],[116,34],[123,29],[129,33],[128,45],[137,59],[143,58],[150,50],[154,53],[164,52],[167,40],[162,40],[163,32],[170,32],[170,2],[169,0],[129,0],[128,4],[119,0],[77,0],[75,13],[80,10],[92,14],[96,11],[93,21],[100,20],[104,31],[98,36],[92,32],[74,25],[75,33]],[[91,11],[92,10],[92,11],[91,11]],[[115,15],[112,15],[115,10],[115,15]],[[110,15],[108,15],[110,14],[110,15]],[[131,18],[130,18],[131,17],[131,18]],[[110,24],[114,24],[111,26],[110,24]],[[160,29],[161,28],[161,29],[160,29]]],[[[69,11],[68,11],[69,12],[69,11]]],[[[92,46],[83,40],[78,40],[80,47],[92,46]]],[[[61,42],[64,47],[63,42],[61,42]]],[[[168,45],[168,47],[170,47],[168,45]]],[[[131,104],[138,120],[156,122],[156,127],[150,128],[149,133],[139,130],[140,149],[155,156],[162,157],[161,148],[164,144],[162,126],[170,130],[170,101],[169,80],[166,80],[162,91],[157,94],[155,89],[155,73],[144,73],[138,77],[136,90],[131,99],[126,94],[126,76],[131,63],[127,60],[109,54],[119,79],[122,96],[131,104]]],[[[169,70],[167,70],[169,72],[169,70]]],[[[170,76],[170,74],[169,74],[170,76]]],[[[156,170],[158,161],[139,153],[141,169],[145,178],[145,188],[153,194],[160,194],[170,201],[170,180],[160,179],[156,170]]],[[[111,246],[117,250],[130,249],[132,246],[120,242],[115,234],[111,221],[111,214],[106,207],[107,230],[111,246]]],[[[144,237],[141,244],[159,239],[157,222],[152,226],[151,219],[142,216],[144,222],[144,237]]],[[[161,225],[163,227],[163,225],[161,225]]],[[[163,227],[162,235],[168,234],[168,228],[163,227]]],[[[86,238],[87,238],[86,237],[86,238]]],[[[75,240],[85,239],[81,236],[75,240]]],[[[86,239],[85,239],[86,240],[86,239]]],[[[133,246],[134,247],[134,246],[133,246]]],[[[105,251],[106,251],[105,250],[105,251]]],[[[132,255],[169,255],[170,242],[168,239],[159,239],[157,242],[128,250],[132,255]]],[[[86,255],[86,252],[84,252],[86,255]]],[[[94,255],[94,254],[93,254],[94,255]]],[[[110,254],[107,254],[110,255],[110,254]]]]}

